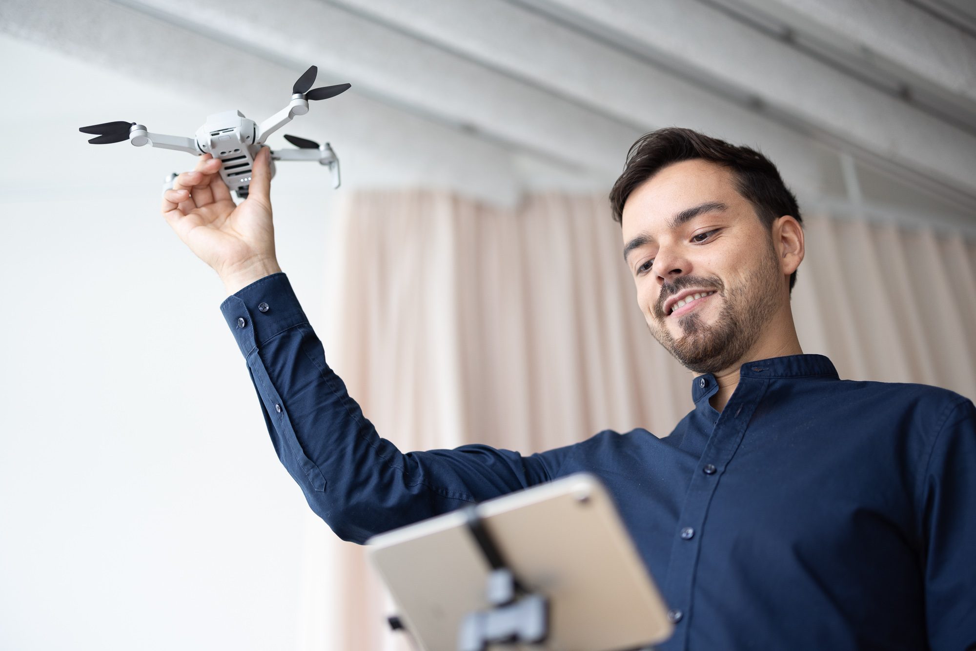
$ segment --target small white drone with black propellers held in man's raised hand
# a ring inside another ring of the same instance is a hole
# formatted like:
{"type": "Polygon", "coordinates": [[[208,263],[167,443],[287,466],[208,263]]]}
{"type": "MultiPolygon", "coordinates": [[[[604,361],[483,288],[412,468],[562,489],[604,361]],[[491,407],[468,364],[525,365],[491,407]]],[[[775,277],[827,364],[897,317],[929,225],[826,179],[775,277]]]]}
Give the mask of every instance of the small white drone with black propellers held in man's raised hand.
{"type": "MultiPolygon", "coordinates": [[[[135,122],[105,122],[90,127],[80,127],[78,131],[83,134],[98,135],[99,138],[88,141],[92,144],[129,141],[138,147],[148,143],[154,147],[176,149],[196,156],[209,152],[214,158],[224,161],[221,166],[221,177],[224,178],[227,187],[235,191],[241,199],[246,199],[251,184],[251,166],[267,137],[290,122],[296,115],[305,115],[308,112],[309,101],[328,100],[350,88],[349,84],[337,84],[309,91],[308,89],[315,83],[317,74],[318,68],[314,65],[305,70],[292,87],[291,102],[260,125],[244,117],[244,113],[239,110],[227,110],[208,115],[207,122],[197,129],[196,139],[151,134],[144,126],[135,122]]],[[[285,140],[299,148],[277,151],[271,149],[272,178],[276,160],[317,160],[320,165],[329,167],[332,186],[339,187],[339,158],[332,150],[332,145],[328,142],[320,145],[317,142],[288,135],[285,136],[285,140]]],[[[176,173],[169,175],[163,189],[172,188],[173,180],[176,178],[176,173]]]]}

